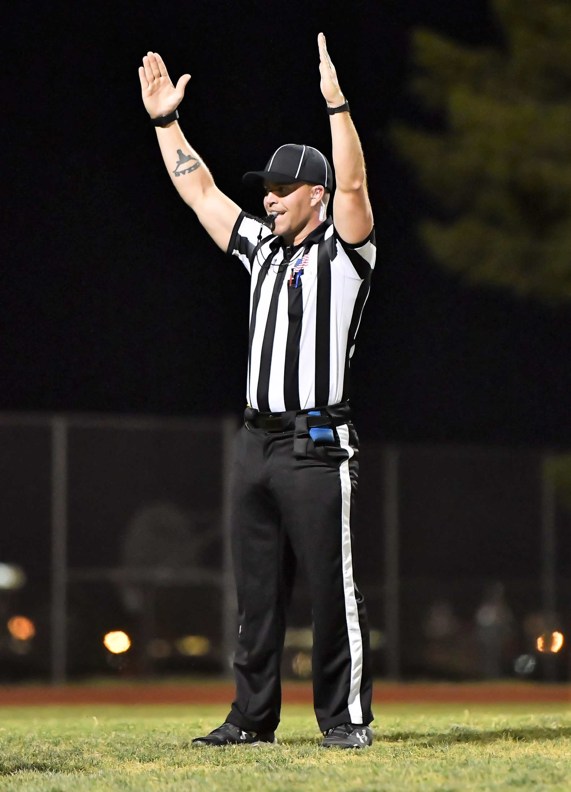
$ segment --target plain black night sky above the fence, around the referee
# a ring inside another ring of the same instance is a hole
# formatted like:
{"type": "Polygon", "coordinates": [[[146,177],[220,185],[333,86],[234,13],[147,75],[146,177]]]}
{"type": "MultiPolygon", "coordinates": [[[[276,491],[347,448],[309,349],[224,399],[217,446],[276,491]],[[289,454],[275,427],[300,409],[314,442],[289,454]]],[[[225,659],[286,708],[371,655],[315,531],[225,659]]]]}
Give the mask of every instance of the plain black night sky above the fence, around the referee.
{"type": "Polygon", "coordinates": [[[366,439],[565,446],[571,309],[472,288],[436,267],[431,211],[390,149],[409,32],[498,40],[481,0],[19,2],[3,13],[0,409],[193,414],[244,406],[248,276],[162,164],[137,69],[160,52],[190,143],[224,192],[282,143],[330,156],[317,34],[363,141],[377,268],[352,359],[366,439]]]}

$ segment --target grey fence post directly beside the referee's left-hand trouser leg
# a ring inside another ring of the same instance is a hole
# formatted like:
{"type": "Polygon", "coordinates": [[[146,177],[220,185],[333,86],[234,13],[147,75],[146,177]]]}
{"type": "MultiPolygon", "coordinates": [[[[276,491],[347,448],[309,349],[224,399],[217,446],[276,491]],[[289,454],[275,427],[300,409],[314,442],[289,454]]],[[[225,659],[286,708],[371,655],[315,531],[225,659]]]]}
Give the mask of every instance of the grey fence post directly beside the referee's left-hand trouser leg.
{"type": "Polygon", "coordinates": [[[238,603],[232,569],[232,547],[230,540],[230,495],[232,489],[232,458],[237,424],[233,417],[222,422],[222,531],[223,531],[223,624],[222,662],[223,675],[230,676],[236,632],[238,627],[238,603]]]}

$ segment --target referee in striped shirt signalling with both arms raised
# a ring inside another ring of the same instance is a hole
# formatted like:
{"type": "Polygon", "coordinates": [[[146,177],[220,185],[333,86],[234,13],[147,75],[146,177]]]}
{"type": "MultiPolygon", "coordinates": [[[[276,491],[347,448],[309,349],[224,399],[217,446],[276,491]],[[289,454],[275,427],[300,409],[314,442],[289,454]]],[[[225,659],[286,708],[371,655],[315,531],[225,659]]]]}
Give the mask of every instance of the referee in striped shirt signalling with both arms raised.
{"type": "Polygon", "coordinates": [[[194,744],[272,744],[295,565],[314,621],[314,708],[324,747],[370,745],[371,664],[364,600],[353,580],[358,440],[348,369],[375,265],[363,151],[318,36],[337,189],[321,151],[286,144],[263,171],[262,221],[220,192],[177,123],[177,86],[156,52],[139,68],[143,102],[174,186],[216,244],[251,277],[245,425],[234,447],[232,554],[238,592],[236,699],[194,744]]]}

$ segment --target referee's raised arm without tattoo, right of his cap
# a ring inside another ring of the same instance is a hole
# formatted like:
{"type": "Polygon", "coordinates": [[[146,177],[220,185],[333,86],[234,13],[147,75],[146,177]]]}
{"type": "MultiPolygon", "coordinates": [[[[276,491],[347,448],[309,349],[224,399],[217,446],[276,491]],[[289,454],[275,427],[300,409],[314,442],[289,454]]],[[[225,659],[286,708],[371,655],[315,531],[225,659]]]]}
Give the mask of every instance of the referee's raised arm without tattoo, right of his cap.
{"type": "MultiPolygon", "coordinates": [[[[337,82],[337,72],[329,58],[323,33],[319,33],[318,47],[322,94],[329,107],[339,107],[345,103],[345,97],[337,82]]],[[[356,244],[367,238],[373,228],[363,149],[348,112],[337,112],[329,119],[336,181],[333,223],[341,239],[356,244]]]]}

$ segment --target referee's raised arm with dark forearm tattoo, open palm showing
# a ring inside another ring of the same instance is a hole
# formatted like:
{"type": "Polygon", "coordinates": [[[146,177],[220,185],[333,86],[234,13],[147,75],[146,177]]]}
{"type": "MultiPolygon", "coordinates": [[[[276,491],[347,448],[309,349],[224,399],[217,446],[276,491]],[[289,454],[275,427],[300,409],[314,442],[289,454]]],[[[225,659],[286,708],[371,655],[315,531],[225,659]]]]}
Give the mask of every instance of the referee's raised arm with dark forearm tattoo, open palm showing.
{"type": "MultiPolygon", "coordinates": [[[[173,86],[158,52],[147,52],[139,67],[143,104],[151,118],[168,116],[180,104],[190,74],[173,86]]],[[[182,200],[196,212],[200,223],[223,250],[240,214],[240,207],[216,187],[210,171],[188,143],[178,124],[157,127],[158,145],[173,185],[182,200]]]]}

